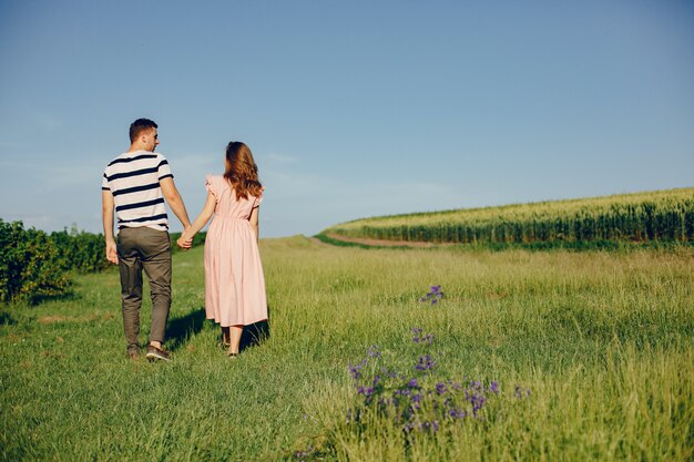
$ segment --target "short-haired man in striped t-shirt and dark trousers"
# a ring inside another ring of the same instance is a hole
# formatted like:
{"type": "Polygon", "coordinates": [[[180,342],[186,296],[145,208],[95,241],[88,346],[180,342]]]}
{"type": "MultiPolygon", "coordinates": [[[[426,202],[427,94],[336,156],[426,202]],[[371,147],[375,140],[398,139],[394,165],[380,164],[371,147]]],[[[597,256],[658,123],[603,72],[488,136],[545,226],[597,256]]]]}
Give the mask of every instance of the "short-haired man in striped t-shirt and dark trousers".
{"type": "Polygon", "coordinates": [[[191,226],[166,158],[159,145],[157,125],[137,119],[130,125],[130,150],[111,162],[101,187],[106,258],[119,265],[123,328],[130,359],[140,357],[142,269],[152,296],[152,326],[146,358],[170,360],[162,343],[171,308],[171,244],[164,199],[184,228],[191,226]],[[113,237],[113,208],[118,217],[118,245],[113,237]]]}

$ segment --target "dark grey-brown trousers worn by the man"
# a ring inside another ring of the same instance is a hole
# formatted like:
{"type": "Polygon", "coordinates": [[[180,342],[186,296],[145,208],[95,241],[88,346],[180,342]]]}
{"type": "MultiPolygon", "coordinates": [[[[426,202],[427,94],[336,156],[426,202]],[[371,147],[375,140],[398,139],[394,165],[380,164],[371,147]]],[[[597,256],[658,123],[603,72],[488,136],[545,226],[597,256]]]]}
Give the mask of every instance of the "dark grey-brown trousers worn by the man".
{"type": "Polygon", "coordinates": [[[122,228],[118,237],[123,328],[127,349],[139,348],[142,269],[152,296],[150,341],[164,341],[171,308],[171,242],[165,230],[122,228]]]}

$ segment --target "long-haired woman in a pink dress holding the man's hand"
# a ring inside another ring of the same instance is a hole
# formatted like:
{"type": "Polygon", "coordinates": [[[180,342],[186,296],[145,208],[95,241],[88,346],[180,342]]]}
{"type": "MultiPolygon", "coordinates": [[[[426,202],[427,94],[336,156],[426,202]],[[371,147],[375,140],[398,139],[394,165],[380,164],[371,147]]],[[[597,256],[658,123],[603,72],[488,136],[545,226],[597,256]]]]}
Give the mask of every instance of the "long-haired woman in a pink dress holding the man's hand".
{"type": "Polygon", "coordinates": [[[207,201],[178,246],[190,248],[193,236],[214,213],[205,238],[205,312],[222,327],[227,355],[238,355],[244,326],[267,319],[265,278],[258,251],[258,212],[263,185],[251,148],[226,146],[224,175],[206,177],[207,201]]]}

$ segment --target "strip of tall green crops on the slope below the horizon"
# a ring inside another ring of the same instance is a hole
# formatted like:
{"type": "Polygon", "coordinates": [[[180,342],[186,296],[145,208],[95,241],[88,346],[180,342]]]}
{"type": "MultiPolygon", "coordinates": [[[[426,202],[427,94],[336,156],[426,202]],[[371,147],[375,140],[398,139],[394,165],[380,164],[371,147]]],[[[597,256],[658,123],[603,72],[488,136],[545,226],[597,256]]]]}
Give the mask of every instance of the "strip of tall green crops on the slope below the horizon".
{"type": "Polygon", "coordinates": [[[357,219],[334,237],[458,244],[694,240],[694,188],[357,219]]]}

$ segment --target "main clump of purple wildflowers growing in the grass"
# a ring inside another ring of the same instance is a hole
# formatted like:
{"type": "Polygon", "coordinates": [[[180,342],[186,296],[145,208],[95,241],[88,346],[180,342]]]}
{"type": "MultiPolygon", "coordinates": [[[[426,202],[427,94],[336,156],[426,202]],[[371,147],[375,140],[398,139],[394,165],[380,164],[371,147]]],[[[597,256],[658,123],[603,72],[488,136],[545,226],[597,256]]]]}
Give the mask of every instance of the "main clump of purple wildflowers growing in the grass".
{"type": "MultiPolygon", "coordinates": [[[[433,335],[414,328],[415,349],[429,350],[433,335]]],[[[479,380],[453,381],[436,377],[438,362],[429,351],[417,351],[416,359],[406,358],[405,371],[386,363],[378,346],[366,357],[349,366],[358,403],[348,411],[347,423],[364,424],[367,413],[394,421],[404,432],[439,431],[442,425],[465,419],[482,419],[486,404],[500,392],[499,382],[479,380]]]]}

